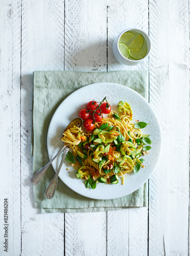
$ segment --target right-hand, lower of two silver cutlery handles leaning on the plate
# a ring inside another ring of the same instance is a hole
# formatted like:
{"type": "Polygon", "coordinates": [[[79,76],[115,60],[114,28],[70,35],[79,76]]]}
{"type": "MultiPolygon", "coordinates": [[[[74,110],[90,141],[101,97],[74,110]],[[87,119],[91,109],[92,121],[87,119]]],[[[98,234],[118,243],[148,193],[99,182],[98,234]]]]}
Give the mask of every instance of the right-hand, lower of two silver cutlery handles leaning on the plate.
{"type": "Polygon", "coordinates": [[[56,191],[56,188],[57,188],[57,185],[58,185],[58,175],[60,173],[62,164],[65,160],[65,157],[66,157],[68,151],[69,151],[69,147],[65,147],[62,160],[61,160],[60,165],[58,167],[58,171],[57,171],[56,175],[54,176],[54,178],[50,181],[50,183],[49,183],[49,185],[48,185],[48,187],[45,191],[44,195],[47,199],[52,199],[53,196],[55,195],[55,191],[56,191]]]}

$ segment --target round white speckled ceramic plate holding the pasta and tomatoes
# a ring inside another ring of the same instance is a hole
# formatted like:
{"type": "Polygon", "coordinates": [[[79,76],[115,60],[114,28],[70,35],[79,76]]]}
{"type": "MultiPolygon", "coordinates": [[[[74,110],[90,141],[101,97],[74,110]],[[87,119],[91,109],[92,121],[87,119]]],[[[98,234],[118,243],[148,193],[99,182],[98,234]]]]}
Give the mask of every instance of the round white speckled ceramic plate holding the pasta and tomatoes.
{"type": "MultiPolygon", "coordinates": [[[[161,150],[161,131],[159,121],[151,108],[150,104],[137,92],[117,83],[94,83],[89,86],[78,89],[70,94],[58,107],[53,115],[47,134],[47,150],[49,158],[57,154],[63,146],[60,140],[67,124],[78,117],[81,109],[85,108],[86,104],[95,99],[101,101],[106,96],[106,99],[112,106],[112,110],[117,111],[117,105],[120,100],[126,101],[131,105],[133,111],[133,122],[135,120],[149,123],[144,129],[143,134],[150,134],[152,148],[150,153],[144,157],[146,167],[141,168],[137,175],[125,175],[125,184],[121,184],[119,179],[118,184],[97,183],[95,189],[86,188],[85,181],[76,178],[76,169],[65,160],[59,177],[61,180],[76,193],[93,199],[115,199],[126,196],[142,186],[151,176],[159,159],[161,150]],[[66,168],[69,167],[69,170],[66,168]]],[[[52,162],[55,170],[61,161],[62,154],[52,162]]]]}

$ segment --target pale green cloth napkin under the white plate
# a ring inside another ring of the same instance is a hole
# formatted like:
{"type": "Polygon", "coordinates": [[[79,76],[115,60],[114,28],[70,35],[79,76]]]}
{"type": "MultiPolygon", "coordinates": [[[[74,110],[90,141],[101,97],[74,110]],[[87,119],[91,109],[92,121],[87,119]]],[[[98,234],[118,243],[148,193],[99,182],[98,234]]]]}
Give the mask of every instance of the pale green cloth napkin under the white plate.
{"type": "MultiPolygon", "coordinates": [[[[148,71],[34,72],[33,98],[33,174],[49,162],[47,131],[53,113],[59,104],[75,90],[96,82],[123,84],[148,99],[148,71]]],[[[148,185],[145,183],[132,194],[114,200],[94,200],[78,195],[60,179],[53,199],[44,197],[45,189],[55,171],[50,166],[43,179],[34,188],[35,207],[45,212],[89,212],[147,206],[148,185]]]]}

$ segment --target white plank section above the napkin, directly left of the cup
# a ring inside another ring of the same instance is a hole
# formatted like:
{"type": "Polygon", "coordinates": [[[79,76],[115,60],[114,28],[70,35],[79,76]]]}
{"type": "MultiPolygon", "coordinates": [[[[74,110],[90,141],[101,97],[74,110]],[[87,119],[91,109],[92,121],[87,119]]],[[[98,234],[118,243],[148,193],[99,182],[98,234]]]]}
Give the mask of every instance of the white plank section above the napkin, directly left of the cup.
{"type": "Polygon", "coordinates": [[[106,71],[106,1],[65,1],[65,70],[106,71]]]}

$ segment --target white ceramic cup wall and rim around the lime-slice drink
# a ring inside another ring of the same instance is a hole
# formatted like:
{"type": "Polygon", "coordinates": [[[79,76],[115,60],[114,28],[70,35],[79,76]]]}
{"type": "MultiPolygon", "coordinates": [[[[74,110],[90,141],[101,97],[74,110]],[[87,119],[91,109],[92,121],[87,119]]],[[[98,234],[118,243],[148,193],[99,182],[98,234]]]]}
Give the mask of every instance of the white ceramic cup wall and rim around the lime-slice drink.
{"type": "Polygon", "coordinates": [[[121,32],[121,33],[119,34],[119,36],[115,38],[114,43],[113,43],[113,52],[114,52],[114,55],[115,55],[116,59],[117,59],[119,62],[121,62],[122,64],[129,65],[129,66],[133,66],[133,65],[137,65],[137,64],[141,63],[141,62],[149,55],[150,49],[151,49],[151,42],[150,42],[149,36],[148,36],[144,31],[142,31],[142,30],[140,30],[140,29],[135,29],[135,28],[126,29],[126,30],[124,30],[123,32],[121,32]],[[145,38],[145,40],[146,40],[146,42],[147,42],[147,53],[146,53],[146,55],[145,55],[144,58],[138,59],[138,60],[127,59],[127,58],[125,58],[125,57],[120,53],[120,51],[119,51],[119,46],[118,46],[118,44],[119,44],[119,39],[120,39],[120,37],[121,37],[125,32],[127,32],[127,31],[138,32],[138,33],[140,33],[142,36],[144,36],[144,38],[145,38]]]}

